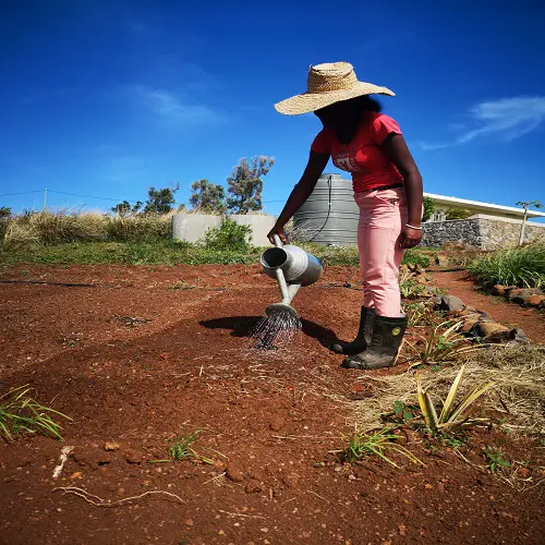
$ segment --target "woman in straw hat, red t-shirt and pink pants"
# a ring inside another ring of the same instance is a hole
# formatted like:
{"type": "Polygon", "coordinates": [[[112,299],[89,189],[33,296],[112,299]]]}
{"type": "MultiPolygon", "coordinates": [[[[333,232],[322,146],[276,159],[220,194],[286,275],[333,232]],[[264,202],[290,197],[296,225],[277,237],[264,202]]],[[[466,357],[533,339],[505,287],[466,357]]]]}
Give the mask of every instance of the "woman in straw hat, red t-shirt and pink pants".
{"type": "Polygon", "coordinates": [[[380,113],[368,95],[391,95],[386,87],[359,82],[353,66],[335,62],[311,66],[307,92],[275,105],[280,113],[314,112],[324,129],[314,140],[305,171],[291,192],[275,227],[283,227],[308,198],[329,158],[352,174],[360,207],[358,247],[363,280],[363,306],[358,336],[334,344],[349,355],[348,368],[392,365],[407,328],[398,276],[404,250],[422,238],[422,178],[398,123],[380,113]]]}

